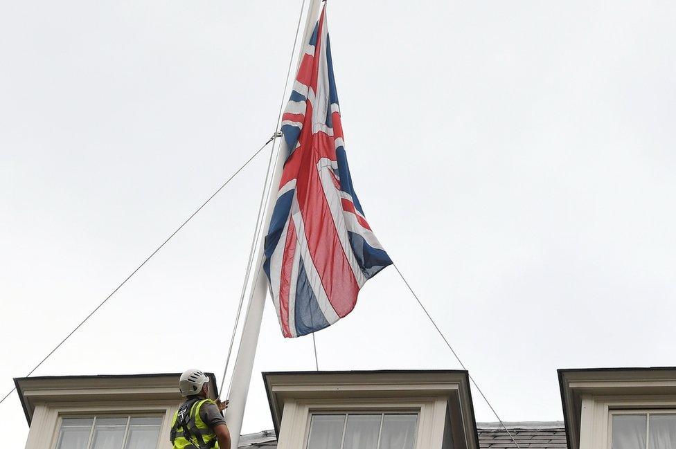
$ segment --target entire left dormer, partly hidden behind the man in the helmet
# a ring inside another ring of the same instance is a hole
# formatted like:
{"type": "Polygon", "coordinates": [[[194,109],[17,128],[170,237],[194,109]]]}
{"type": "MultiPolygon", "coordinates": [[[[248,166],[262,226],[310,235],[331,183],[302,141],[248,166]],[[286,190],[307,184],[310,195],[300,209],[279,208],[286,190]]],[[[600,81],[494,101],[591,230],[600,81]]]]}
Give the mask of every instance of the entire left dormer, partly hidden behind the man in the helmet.
{"type": "MultiPolygon", "coordinates": [[[[15,379],[26,449],[169,449],[180,374],[15,379]]],[[[209,392],[217,394],[213,374],[209,392]]]]}

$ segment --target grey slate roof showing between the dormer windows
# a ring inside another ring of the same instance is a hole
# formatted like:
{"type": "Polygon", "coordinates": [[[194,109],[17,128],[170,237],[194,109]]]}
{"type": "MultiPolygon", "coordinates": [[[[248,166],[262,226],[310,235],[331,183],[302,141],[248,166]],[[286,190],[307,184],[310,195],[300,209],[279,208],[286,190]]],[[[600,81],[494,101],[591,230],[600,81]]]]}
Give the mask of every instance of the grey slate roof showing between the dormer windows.
{"type": "MultiPolygon", "coordinates": [[[[505,423],[522,449],[566,449],[563,421],[505,423]]],[[[481,449],[512,449],[517,446],[500,423],[477,423],[481,449]]],[[[242,435],[240,449],[276,449],[274,430],[242,435]]]]}

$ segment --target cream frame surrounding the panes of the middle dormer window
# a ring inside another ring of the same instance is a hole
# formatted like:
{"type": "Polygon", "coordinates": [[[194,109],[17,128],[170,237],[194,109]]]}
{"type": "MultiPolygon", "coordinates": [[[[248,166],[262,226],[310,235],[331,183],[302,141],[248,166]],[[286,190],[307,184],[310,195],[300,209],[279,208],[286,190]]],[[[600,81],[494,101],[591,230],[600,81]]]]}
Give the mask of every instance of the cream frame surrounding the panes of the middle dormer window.
{"type": "Polygon", "coordinates": [[[350,398],[287,401],[278,449],[307,448],[313,414],[418,414],[416,449],[441,448],[447,398],[350,398]]]}

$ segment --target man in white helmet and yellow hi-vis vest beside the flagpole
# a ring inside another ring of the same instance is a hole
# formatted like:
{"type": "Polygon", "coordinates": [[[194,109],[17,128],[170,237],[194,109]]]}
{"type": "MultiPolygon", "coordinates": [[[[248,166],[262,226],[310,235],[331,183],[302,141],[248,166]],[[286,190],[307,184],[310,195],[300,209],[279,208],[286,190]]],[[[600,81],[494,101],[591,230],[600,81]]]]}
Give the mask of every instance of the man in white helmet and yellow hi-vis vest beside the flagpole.
{"type": "Polygon", "coordinates": [[[230,431],[221,412],[227,401],[208,398],[209,378],[197,369],[188,369],[179,380],[186,401],[174,414],[170,441],[174,449],[230,449],[230,431]]]}

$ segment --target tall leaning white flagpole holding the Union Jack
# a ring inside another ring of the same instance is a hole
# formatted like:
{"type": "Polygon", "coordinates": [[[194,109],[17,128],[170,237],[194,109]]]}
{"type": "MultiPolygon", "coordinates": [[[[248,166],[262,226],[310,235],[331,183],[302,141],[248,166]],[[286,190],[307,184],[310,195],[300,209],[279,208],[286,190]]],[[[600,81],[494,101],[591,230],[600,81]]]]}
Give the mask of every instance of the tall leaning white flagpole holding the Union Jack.
{"type": "MultiPolygon", "coordinates": [[[[300,51],[298,64],[296,64],[296,71],[292,74],[295,79],[298,66],[301,62],[301,57],[305,53],[305,42],[310,39],[310,34],[314,30],[314,24],[319,17],[319,7],[321,0],[311,0],[308,8],[308,15],[305,19],[305,33],[300,43],[300,51]]],[[[284,99],[286,101],[286,98],[284,99]]],[[[274,151],[274,148],[273,148],[274,151]]],[[[265,186],[265,195],[269,201],[267,205],[263,205],[258,214],[263,215],[262,226],[258,231],[256,257],[251,259],[251,270],[249,270],[249,279],[247,284],[253,282],[249,289],[249,306],[247,308],[247,316],[244,318],[244,325],[242,327],[242,337],[240,338],[240,346],[237,351],[237,358],[235,359],[235,366],[233,368],[231,388],[229,401],[230,405],[225,413],[225,420],[228,423],[228,428],[231,435],[231,448],[237,449],[240,440],[240,433],[242,432],[242,420],[244,419],[244,407],[247,403],[247,395],[249,394],[249,384],[251,383],[251,372],[253,371],[253,359],[256,357],[256,346],[258,345],[258,334],[260,333],[260,322],[263,320],[263,309],[265,308],[265,299],[267,295],[267,276],[263,272],[263,243],[267,228],[269,226],[270,217],[272,217],[272,210],[277,200],[277,188],[282,176],[284,162],[286,156],[289,154],[288,147],[284,138],[280,139],[278,145],[276,158],[274,164],[270,165],[269,176],[270,182],[265,186]]]]}

